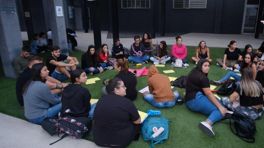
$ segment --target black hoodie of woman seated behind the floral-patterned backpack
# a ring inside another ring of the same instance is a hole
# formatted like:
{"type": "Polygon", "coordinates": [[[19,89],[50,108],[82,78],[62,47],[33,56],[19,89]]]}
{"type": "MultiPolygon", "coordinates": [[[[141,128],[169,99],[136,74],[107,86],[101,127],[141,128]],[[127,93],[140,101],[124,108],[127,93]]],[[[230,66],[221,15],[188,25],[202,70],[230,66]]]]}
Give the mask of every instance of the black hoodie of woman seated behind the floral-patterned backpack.
{"type": "Polygon", "coordinates": [[[61,111],[70,109],[81,117],[88,117],[91,109],[91,94],[80,84],[69,84],[63,89],[61,97],[61,111]]]}

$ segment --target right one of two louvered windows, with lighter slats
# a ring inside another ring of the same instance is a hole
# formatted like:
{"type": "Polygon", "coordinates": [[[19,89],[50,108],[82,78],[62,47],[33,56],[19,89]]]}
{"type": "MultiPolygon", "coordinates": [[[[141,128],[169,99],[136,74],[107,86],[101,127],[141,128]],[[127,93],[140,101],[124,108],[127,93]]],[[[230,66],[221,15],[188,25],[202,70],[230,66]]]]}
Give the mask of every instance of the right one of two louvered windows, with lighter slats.
{"type": "Polygon", "coordinates": [[[207,0],[173,0],[174,9],[206,8],[207,0]]]}

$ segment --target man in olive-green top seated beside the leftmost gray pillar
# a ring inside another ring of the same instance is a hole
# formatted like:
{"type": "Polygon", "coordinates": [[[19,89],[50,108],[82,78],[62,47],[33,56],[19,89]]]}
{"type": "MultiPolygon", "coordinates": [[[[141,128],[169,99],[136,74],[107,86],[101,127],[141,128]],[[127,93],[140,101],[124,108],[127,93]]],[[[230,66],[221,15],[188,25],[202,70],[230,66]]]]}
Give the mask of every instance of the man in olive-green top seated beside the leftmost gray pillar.
{"type": "Polygon", "coordinates": [[[14,59],[14,68],[18,74],[21,74],[28,67],[28,60],[33,56],[30,52],[29,46],[24,46],[22,47],[21,54],[14,59]]]}

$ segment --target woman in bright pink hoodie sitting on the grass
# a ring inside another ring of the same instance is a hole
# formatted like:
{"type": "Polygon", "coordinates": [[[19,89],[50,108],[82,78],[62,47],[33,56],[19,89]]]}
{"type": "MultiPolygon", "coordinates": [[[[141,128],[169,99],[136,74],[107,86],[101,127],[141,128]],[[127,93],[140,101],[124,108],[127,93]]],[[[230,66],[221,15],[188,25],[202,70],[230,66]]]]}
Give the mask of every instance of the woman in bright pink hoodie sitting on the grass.
{"type": "Polygon", "coordinates": [[[182,44],[182,37],[176,36],[176,44],[172,46],[171,53],[172,53],[172,62],[175,62],[176,59],[182,59],[182,63],[189,67],[187,64],[187,48],[185,45],[182,44]]]}

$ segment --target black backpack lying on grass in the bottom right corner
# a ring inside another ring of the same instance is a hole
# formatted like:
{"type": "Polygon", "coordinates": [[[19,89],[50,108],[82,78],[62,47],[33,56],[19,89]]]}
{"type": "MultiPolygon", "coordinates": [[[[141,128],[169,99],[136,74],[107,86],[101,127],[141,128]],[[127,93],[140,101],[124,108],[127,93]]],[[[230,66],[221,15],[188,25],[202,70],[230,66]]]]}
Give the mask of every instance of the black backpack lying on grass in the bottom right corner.
{"type": "Polygon", "coordinates": [[[252,119],[247,118],[244,113],[239,111],[233,112],[229,120],[229,125],[232,132],[242,140],[249,143],[255,142],[255,138],[253,138],[253,136],[256,132],[256,123],[252,119]],[[236,133],[231,127],[231,119],[234,120],[236,133]],[[247,141],[244,138],[252,139],[253,141],[247,141]]]}

